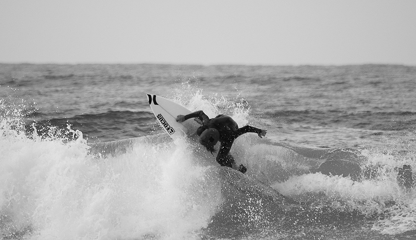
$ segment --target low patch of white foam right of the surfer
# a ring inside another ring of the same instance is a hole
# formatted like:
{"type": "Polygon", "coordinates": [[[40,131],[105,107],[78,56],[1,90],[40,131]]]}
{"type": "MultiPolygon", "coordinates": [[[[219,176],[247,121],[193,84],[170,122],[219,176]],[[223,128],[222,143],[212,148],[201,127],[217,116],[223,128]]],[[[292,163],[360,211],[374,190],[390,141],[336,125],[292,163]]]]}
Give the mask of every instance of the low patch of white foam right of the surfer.
{"type": "MultiPolygon", "coordinates": [[[[324,194],[322,201],[331,207],[350,209],[366,216],[385,211],[385,203],[400,195],[397,184],[391,181],[355,182],[348,177],[327,176],[321,173],[303,174],[272,185],[285,196],[299,198],[310,194],[324,194]]],[[[307,199],[303,199],[304,201],[307,199]]]]}

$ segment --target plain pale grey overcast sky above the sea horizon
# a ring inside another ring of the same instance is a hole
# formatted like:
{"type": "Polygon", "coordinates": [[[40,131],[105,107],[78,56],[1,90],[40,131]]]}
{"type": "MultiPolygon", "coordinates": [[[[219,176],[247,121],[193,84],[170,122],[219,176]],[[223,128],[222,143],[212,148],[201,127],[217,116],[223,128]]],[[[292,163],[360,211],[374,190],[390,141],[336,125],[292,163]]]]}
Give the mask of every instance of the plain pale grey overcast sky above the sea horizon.
{"type": "Polygon", "coordinates": [[[1,0],[0,63],[416,66],[416,1],[1,0]]]}

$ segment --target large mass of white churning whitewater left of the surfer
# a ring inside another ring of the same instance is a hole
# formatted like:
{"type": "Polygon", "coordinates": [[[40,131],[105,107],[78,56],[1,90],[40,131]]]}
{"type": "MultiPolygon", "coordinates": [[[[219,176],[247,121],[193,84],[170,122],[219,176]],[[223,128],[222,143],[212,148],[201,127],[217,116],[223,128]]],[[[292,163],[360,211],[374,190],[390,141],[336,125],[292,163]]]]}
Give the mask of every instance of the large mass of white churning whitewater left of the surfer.
{"type": "Polygon", "coordinates": [[[2,237],[190,239],[221,204],[218,179],[194,164],[186,140],[139,141],[106,156],[77,130],[67,131],[73,141],[2,123],[2,237]]]}

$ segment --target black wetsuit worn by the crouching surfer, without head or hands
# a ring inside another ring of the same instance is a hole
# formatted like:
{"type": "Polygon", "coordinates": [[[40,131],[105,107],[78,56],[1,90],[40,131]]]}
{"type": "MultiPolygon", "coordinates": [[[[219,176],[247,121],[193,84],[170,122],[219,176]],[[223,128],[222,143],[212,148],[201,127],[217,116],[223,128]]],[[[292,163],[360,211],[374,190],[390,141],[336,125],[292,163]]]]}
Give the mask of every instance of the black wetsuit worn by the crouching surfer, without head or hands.
{"type": "MultiPolygon", "coordinates": [[[[217,162],[220,163],[221,166],[228,166],[232,167],[232,163],[234,162],[234,158],[229,155],[228,153],[231,150],[231,146],[234,143],[234,140],[238,138],[240,135],[245,133],[261,133],[261,129],[252,127],[252,126],[244,126],[242,128],[238,128],[237,123],[227,115],[218,115],[215,118],[210,119],[202,110],[189,113],[185,115],[185,120],[198,117],[202,122],[202,130],[215,128],[220,133],[221,147],[220,151],[217,155],[217,162]]],[[[202,132],[197,132],[198,136],[202,132]]]]}

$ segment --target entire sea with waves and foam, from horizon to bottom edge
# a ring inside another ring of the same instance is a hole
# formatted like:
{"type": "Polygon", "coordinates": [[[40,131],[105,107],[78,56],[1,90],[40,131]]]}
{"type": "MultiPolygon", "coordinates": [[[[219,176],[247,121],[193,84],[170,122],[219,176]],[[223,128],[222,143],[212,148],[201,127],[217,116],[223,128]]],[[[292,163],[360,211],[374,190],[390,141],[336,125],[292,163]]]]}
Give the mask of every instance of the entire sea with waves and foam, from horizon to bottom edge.
{"type": "Polygon", "coordinates": [[[0,239],[415,239],[415,137],[411,66],[0,64],[0,239]],[[231,149],[245,176],[147,93],[267,129],[231,149]]]}

